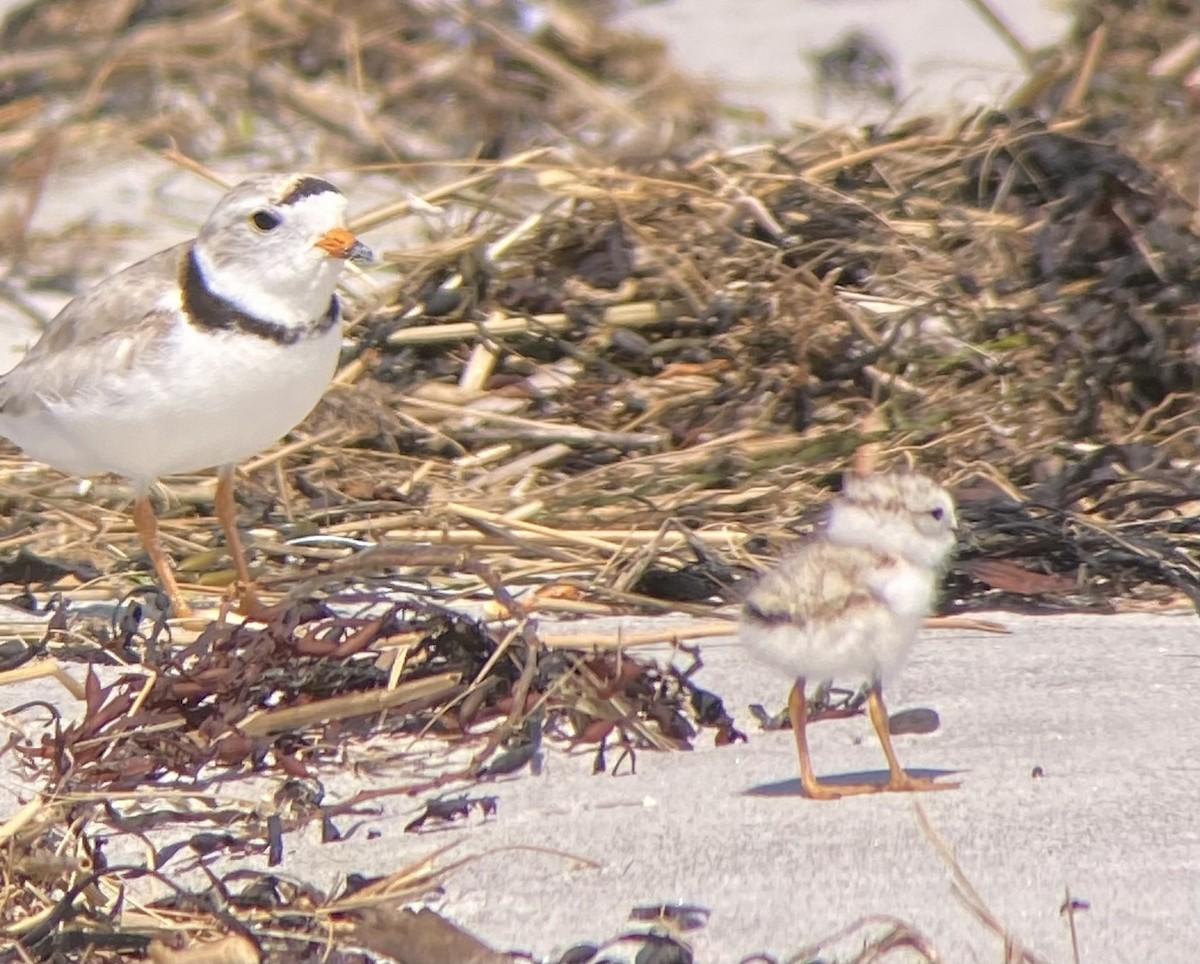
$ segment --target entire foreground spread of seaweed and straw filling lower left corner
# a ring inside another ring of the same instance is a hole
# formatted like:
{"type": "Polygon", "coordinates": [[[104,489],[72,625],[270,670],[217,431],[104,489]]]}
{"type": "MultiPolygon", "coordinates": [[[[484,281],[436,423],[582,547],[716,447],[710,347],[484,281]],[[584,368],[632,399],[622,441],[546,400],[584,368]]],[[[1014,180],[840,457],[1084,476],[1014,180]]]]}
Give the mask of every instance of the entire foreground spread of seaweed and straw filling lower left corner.
{"type": "MultiPolygon", "coordinates": [[[[544,741],[582,748],[594,755],[595,772],[616,773],[623,765],[636,768],[640,749],[690,748],[701,728],[719,743],[745,738],[721,701],[690,681],[695,653],[680,670],[618,652],[547,648],[524,618],[485,624],[430,601],[380,607],[374,597],[343,593],[281,604],[253,624],[216,621],[187,643],[172,645],[149,609],[114,622],[125,635],[113,636],[108,651],[128,658],[138,649],[145,667],[130,667],[108,685],[89,671],[77,721],[64,721],[44,702],[10,717],[26,735],[12,748],[44,788],[34,803],[47,806],[29,807],[6,826],[0,927],[35,921],[19,930],[35,957],[89,946],[144,953],[152,941],[169,950],[178,928],[193,941],[218,933],[217,940],[244,945],[248,959],[269,953],[299,960],[313,941],[328,940],[323,928],[332,926],[348,941],[366,928],[377,940],[364,940],[380,953],[394,946],[389,932],[415,928],[436,935],[438,946],[450,942],[443,948],[449,956],[437,959],[456,960],[449,948],[474,939],[449,922],[392,920],[400,903],[427,892],[449,868],[434,873],[422,862],[382,880],[352,878],[335,894],[251,870],[210,873],[200,892],[185,884],[186,874],[222,854],[265,855],[269,867],[281,867],[286,836],[314,822],[323,840],[341,839],[342,828],[372,813],[380,792],[325,797],[322,767],[347,754],[401,773],[401,784],[385,792],[420,795],[516,773],[544,741]],[[380,651],[401,648],[398,672],[378,665],[380,651]],[[426,732],[468,750],[469,760],[438,764],[438,754],[419,746],[426,732]],[[370,759],[372,747],[379,752],[370,759]],[[619,756],[610,765],[606,752],[613,750],[619,756]],[[217,786],[236,772],[275,776],[277,789],[248,808],[217,803],[217,786]],[[168,788],[180,794],[162,796],[168,788]],[[206,803],[196,809],[188,798],[206,803]],[[198,820],[211,828],[164,843],[149,836],[198,820]],[[131,836],[150,849],[150,860],[109,861],[104,848],[131,836]],[[49,851],[71,858],[53,870],[49,851]],[[132,910],[126,888],[146,878],[166,884],[170,896],[134,902],[132,910]]],[[[50,631],[66,625],[55,619],[50,631]]],[[[438,830],[475,812],[494,818],[496,797],[436,796],[406,831],[438,830]]]]}

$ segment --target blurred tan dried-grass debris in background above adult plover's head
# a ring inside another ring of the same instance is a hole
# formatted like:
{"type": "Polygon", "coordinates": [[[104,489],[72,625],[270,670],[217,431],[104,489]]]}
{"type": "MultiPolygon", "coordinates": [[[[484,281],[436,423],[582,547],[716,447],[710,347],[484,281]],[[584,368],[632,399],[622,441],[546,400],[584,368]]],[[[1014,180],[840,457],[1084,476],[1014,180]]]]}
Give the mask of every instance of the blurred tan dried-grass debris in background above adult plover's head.
{"type": "Polygon", "coordinates": [[[564,134],[614,146],[649,118],[659,146],[708,130],[714,96],[606,10],[37,0],[0,29],[0,122],[22,133],[0,142],[0,166],[113,120],[146,146],[280,167],[494,158],[564,134]]]}

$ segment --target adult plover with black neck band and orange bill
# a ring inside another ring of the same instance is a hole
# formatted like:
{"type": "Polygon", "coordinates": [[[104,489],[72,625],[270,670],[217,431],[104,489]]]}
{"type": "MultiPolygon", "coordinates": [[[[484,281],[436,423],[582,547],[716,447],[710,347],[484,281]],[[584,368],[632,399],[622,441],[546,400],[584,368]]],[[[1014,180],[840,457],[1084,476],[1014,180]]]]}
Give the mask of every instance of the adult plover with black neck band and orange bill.
{"type": "Polygon", "coordinates": [[[346,198],[307,174],[239,184],[194,240],[100,282],[0,376],[0,435],[73,475],[133,484],[133,521],[176,613],[155,479],[218,468],[216,514],[244,586],[238,462],[317,405],[342,342],[334,288],[371,251],[346,229],[346,198]]]}

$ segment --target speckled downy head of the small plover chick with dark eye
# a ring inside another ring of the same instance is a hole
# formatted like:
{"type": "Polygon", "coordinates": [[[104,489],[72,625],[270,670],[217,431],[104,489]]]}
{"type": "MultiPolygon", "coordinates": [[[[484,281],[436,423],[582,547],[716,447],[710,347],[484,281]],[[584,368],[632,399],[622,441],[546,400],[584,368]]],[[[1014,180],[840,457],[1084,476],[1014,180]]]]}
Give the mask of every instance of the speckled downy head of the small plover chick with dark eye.
{"type": "Polygon", "coordinates": [[[958,525],[950,493],[925,475],[850,473],[829,511],[826,538],[934,569],[954,549],[958,525]]]}

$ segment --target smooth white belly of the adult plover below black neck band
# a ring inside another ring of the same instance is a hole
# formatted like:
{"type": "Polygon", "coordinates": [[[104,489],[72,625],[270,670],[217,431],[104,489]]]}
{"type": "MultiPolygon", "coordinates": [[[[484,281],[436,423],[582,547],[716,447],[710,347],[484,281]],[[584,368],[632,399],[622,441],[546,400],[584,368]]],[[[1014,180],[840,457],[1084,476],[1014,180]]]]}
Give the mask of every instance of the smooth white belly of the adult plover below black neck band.
{"type": "Polygon", "coordinates": [[[286,435],[320,400],[340,347],[336,324],[293,345],[179,325],[154,358],[0,418],[0,433],[62,472],[112,472],[144,487],[240,462],[286,435]]]}

